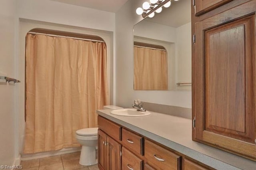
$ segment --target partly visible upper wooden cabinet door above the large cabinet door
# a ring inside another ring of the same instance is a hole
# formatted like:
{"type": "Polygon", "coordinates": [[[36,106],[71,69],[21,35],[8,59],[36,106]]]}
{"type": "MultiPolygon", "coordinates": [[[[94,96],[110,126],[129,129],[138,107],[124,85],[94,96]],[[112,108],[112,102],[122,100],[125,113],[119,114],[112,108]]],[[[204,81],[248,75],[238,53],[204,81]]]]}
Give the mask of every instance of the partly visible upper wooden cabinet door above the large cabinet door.
{"type": "Polygon", "coordinates": [[[232,0],[194,0],[195,14],[199,16],[232,0]]]}

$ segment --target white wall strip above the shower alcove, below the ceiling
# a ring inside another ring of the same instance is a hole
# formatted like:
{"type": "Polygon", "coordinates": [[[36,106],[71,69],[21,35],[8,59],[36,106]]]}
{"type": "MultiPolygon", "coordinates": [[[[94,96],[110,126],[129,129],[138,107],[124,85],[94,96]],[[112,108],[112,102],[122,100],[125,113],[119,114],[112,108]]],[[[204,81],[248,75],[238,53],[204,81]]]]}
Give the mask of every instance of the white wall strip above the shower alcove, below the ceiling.
{"type": "Polygon", "coordinates": [[[51,0],[18,0],[19,18],[114,31],[115,14],[51,0]]]}

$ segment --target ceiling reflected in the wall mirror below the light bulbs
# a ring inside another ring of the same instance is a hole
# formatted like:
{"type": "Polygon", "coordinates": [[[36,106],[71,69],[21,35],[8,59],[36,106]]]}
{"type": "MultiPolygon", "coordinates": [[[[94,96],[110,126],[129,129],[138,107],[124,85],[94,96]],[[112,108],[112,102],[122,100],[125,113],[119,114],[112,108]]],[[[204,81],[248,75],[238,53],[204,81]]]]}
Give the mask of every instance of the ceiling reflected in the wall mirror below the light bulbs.
{"type": "Polygon", "coordinates": [[[147,17],[146,21],[158,24],[179,27],[191,21],[191,0],[171,1],[169,8],[162,9],[161,13],[155,13],[153,18],[147,17]]]}

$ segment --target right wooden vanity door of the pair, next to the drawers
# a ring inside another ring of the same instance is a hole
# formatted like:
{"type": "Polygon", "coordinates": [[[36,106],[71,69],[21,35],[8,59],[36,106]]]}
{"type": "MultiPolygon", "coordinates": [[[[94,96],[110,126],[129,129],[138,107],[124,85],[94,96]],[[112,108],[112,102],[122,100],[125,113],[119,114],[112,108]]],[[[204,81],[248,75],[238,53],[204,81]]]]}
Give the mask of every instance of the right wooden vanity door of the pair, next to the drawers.
{"type": "Polygon", "coordinates": [[[107,170],[121,169],[121,144],[107,137],[107,170]]]}

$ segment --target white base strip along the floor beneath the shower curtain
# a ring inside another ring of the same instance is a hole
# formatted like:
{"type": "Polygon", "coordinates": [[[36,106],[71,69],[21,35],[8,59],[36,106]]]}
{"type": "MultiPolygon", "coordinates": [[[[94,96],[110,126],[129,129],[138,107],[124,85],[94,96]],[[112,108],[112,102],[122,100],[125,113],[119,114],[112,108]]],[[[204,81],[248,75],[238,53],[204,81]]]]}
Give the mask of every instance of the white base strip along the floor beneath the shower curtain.
{"type": "Polygon", "coordinates": [[[49,152],[39,152],[39,153],[34,153],[34,154],[22,154],[20,160],[45,158],[45,157],[49,157],[49,156],[68,154],[68,153],[79,152],[79,151],[81,151],[81,147],[63,148],[60,150],[54,150],[54,151],[49,151],[49,152]]]}

